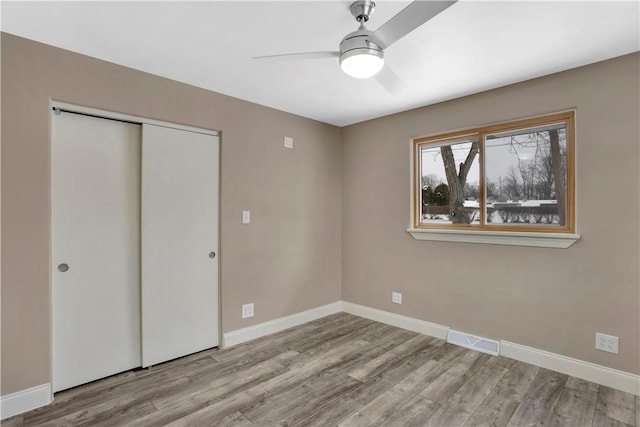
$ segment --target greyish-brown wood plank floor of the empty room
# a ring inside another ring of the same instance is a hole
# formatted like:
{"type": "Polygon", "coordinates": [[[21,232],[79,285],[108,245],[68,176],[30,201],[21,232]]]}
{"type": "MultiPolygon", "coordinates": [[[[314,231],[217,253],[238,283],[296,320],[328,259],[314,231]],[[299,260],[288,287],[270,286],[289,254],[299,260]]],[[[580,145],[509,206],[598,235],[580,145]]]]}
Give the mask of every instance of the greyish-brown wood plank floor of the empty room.
{"type": "Polygon", "coordinates": [[[2,425],[640,427],[640,399],[339,313],[63,391],[2,425]]]}

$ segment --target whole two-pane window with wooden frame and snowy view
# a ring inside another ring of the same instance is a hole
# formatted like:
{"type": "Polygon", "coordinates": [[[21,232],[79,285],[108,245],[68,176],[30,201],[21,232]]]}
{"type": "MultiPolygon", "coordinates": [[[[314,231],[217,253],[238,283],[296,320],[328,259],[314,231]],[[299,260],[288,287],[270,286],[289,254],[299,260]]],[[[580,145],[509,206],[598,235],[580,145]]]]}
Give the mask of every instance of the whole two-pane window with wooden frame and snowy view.
{"type": "Polygon", "coordinates": [[[409,231],[579,237],[572,111],[416,138],[413,156],[409,231]]]}

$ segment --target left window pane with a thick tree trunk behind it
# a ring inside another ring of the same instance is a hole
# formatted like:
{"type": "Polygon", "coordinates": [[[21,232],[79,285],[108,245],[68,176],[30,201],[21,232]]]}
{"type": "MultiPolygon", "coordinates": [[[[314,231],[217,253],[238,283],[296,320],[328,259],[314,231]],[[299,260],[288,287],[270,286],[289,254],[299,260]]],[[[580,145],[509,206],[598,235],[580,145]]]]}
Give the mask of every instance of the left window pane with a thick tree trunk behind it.
{"type": "Polygon", "coordinates": [[[421,224],[479,224],[478,141],[420,147],[421,224]]]}

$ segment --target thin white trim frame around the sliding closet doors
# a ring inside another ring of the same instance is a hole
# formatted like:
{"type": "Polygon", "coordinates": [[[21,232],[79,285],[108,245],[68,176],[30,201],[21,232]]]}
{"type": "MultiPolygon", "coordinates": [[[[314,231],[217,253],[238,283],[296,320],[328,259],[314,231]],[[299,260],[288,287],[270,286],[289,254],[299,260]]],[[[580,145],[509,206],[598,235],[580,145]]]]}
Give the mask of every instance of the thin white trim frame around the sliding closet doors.
{"type": "MultiPolygon", "coordinates": [[[[178,130],[185,130],[190,132],[203,133],[206,135],[216,136],[218,137],[218,253],[216,254],[216,258],[218,258],[218,343],[219,347],[222,348],[224,341],[222,340],[222,282],[221,282],[221,270],[222,270],[222,262],[221,256],[222,252],[221,244],[220,244],[220,214],[221,214],[221,204],[220,204],[220,194],[221,194],[221,152],[222,152],[222,138],[221,132],[213,129],[199,128],[194,126],[181,125],[177,123],[165,122],[161,120],[150,119],[147,117],[134,116],[125,113],[119,113],[115,111],[107,111],[101,110],[97,108],[70,104],[63,101],[49,100],[49,111],[51,110],[63,110],[69,111],[72,113],[86,114],[89,116],[94,116],[98,118],[111,119],[111,120],[120,120],[124,122],[130,122],[134,124],[150,124],[156,126],[164,126],[178,130]]],[[[49,182],[51,182],[52,178],[52,170],[53,170],[53,157],[52,157],[52,148],[53,148],[53,123],[51,121],[52,115],[49,114],[49,182]]],[[[53,382],[53,265],[55,260],[53,259],[53,222],[52,222],[52,197],[51,197],[51,189],[49,190],[49,366],[50,366],[50,385],[53,382]]],[[[142,332],[142,319],[140,319],[140,330],[142,332]]],[[[141,361],[142,362],[142,361],[141,361]]],[[[51,391],[51,401],[53,401],[53,387],[50,386],[49,390],[51,391]]]]}

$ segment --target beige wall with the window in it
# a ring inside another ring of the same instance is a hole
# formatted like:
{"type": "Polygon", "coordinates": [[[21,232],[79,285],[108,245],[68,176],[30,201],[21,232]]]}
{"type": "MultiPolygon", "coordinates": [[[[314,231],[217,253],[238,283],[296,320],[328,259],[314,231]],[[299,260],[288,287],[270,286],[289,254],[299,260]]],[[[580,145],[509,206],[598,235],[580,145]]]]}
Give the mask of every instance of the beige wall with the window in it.
{"type": "Polygon", "coordinates": [[[343,299],[640,373],[639,60],[344,128],[343,299]],[[428,242],[406,232],[410,138],[569,108],[577,109],[575,245],[428,242]],[[596,351],[596,331],[619,336],[620,354],[596,351]]]}

